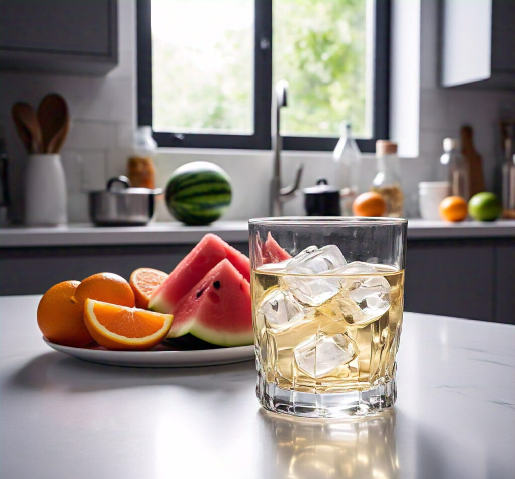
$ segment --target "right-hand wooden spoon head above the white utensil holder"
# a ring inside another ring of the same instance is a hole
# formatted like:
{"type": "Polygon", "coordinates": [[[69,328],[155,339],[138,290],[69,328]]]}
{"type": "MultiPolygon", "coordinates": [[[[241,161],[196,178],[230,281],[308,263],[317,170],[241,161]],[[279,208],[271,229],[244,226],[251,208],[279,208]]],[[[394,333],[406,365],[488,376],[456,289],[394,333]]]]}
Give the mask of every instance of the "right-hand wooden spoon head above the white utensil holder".
{"type": "Polygon", "coordinates": [[[66,100],[58,93],[49,93],[39,104],[38,119],[43,131],[43,150],[45,153],[55,153],[61,149],[68,126],[70,113],[66,100]]]}

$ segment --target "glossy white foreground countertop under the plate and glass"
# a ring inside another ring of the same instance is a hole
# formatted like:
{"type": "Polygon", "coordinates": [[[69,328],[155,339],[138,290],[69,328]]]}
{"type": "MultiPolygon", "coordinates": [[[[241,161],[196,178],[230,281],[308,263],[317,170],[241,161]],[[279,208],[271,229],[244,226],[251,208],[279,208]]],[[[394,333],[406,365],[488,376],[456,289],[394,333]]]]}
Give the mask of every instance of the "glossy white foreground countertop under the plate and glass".
{"type": "Polygon", "coordinates": [[[265,413],[253,362],[137,369],[55,352],[38,300],[0,298],[6,479],[515,476],[515,326],[408,313],[397,404],[313,421],[265,413]]]}

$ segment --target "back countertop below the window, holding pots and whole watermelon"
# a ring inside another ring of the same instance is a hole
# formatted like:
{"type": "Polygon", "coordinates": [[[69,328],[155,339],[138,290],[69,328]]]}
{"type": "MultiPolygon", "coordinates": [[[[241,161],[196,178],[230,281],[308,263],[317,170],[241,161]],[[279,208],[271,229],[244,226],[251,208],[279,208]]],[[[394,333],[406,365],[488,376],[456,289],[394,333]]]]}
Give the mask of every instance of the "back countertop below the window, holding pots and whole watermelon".
{"type": "MultiPolygon", "coordinates": [[[[215,233],[226,241],[246,242],[247,221],[216,221],[209,226],[185,226],[181,223],[152,223],[133,227],[95,227],[92,224],[71,224],[61,227],[0,228],[0,247],[80,246],[133,244],[195,244],[206,233],[215,233]]],[[[410,219],[408,238],[495,238],[515,237],[515,220],[493,223],[464,221],[444,223],[410,219]]]]}

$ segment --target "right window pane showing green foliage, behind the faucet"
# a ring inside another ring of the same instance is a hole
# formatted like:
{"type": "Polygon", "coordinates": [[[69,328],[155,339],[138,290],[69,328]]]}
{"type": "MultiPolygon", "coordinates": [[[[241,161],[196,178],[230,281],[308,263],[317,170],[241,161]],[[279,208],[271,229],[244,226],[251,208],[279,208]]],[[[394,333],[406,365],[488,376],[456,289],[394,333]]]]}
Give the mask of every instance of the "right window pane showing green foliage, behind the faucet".
{"type": "Polygon", "coordinates": [[[273,0],[273,78],[289,83],[281,133],[372,133],[371,0],[273,0]]]}

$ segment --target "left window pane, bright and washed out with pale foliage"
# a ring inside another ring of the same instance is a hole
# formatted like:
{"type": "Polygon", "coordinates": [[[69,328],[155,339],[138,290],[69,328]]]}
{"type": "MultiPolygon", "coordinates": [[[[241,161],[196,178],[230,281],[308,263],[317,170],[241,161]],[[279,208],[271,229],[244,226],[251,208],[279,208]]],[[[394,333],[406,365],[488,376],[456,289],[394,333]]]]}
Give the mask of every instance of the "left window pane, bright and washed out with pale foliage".
{"type": "Polygon", "coordinates": [[[155,131],[253,133],[253,0],[152,0],[155,131]]]}

